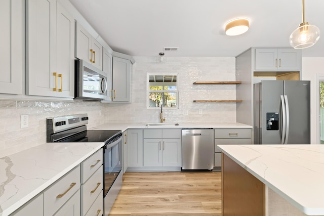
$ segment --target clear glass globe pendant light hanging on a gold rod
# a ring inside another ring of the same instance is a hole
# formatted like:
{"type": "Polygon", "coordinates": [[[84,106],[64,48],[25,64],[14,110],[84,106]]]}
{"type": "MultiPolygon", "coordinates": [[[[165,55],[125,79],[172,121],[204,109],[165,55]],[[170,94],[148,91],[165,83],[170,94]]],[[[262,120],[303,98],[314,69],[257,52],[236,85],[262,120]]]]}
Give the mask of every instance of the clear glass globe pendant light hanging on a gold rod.
{"type": "Polygon", "coordinates": [[[303,0],[303,22],[289,37],[290,45],[295,49],[304,49],[316,44],[319,39],[319,28],[305,22],[305,2],[303,0]]]}

